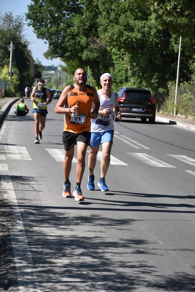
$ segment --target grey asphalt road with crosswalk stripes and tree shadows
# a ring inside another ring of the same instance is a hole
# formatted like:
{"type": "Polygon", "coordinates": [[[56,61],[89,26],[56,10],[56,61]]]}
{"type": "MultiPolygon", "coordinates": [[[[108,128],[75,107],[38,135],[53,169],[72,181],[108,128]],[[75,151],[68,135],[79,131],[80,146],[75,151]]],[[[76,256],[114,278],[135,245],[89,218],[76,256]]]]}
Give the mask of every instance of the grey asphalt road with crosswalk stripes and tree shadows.
{"type": "MultiPolygon", "coordinates": [[[[63,115],[48,106],[34,144],[32,102],[0,136],[1,189],[13,210],[12,291],[195,291],[195,131],[162,122],[115,123],[109,191],[62,197],[63,115]],[[18,278],[19,287],[16,279],[18,278]]],[[[76,154],[75,149],[75,154],[76,154]]],[[[70,181],[75,184],[76,155],[70,181]]]]}

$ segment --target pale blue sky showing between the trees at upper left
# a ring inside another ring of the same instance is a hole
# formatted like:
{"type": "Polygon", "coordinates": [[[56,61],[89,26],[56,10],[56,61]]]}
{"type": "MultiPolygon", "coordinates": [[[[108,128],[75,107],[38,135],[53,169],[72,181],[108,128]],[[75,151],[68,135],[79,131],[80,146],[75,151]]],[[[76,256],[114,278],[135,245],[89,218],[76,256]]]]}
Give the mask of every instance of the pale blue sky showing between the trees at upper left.
{"type": "MultiPolygon", "coordinates": [[[[28,11],[27,5],[30,5],[31,0],[0,0],[0,15],[3,16],[5,13],[12,12],[14,16],[23,15],[28,11]]],[[[33,58],[41,62],[43,66],[59,66],[60,59],[48,60],[43,56],[43,53],[47,51],[47,44],[44,40],[38,39],[33,33],[33,28],[25,25],[24,34],[26,39],[30,42],[29,49],[32,52],[33,58]]]]}

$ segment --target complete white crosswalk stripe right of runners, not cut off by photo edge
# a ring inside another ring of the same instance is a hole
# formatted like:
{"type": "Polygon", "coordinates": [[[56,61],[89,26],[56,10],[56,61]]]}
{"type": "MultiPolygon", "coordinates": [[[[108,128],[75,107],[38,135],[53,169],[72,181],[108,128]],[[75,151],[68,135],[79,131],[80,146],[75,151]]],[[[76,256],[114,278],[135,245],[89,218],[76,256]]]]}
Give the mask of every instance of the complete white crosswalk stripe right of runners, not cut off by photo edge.
{"type": "Polygon", "coordinates": [[[168,164],[166,162],[163,162],[155,157],[152,157],[146,153],[128,153],[129,155],[132,155],[133,157],[137,158],[138,160],[140,160],[141,162],[144,162],[150,166],[155,166],[155,167],[174,167],[176,168],[176,166],[173,166],[171,164],[168,164]]]}

